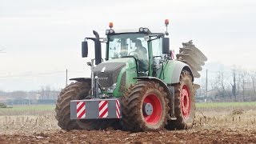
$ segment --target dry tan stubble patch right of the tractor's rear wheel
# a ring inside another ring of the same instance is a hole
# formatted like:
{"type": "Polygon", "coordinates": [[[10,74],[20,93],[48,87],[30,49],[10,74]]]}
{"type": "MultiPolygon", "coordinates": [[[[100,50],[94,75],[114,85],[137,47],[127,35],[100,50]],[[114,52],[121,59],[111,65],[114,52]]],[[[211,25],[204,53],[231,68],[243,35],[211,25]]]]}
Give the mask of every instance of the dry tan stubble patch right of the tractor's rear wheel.
{"type": "Polygon", "coordinates": [[[256,129],[255,106],[198,108],[196,127],[256,129]]]}

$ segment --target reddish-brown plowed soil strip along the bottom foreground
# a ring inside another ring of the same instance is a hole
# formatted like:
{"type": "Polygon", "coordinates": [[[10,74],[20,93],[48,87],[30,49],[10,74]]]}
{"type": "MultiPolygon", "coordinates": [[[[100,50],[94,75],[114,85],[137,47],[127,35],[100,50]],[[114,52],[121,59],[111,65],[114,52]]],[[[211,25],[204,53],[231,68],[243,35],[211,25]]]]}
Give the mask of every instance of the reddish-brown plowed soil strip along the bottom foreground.
{"type": "Polygon", "coordinates": [[[0,143],[256,143],[256,130],[62,130],[40,134],[0,135],[0,143]]]}

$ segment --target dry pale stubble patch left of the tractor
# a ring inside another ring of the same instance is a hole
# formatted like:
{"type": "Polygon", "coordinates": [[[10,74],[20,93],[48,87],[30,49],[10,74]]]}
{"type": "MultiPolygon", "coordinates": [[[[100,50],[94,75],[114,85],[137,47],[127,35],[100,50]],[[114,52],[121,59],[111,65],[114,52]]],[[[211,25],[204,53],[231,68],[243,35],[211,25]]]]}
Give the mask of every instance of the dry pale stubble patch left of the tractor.
{"type": "Polygon", "coordinates": [[[16,106],[0,109],[0,134],[33,134],[60,130],[54,106],[16,106]]]}

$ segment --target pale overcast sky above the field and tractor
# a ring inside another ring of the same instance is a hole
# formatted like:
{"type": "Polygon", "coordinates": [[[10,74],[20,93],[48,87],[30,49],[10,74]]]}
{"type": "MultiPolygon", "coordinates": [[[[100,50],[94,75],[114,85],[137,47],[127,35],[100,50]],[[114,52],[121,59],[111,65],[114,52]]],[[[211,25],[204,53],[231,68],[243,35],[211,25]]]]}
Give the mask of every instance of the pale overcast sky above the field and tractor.
{"type": "Polygon", "coordinates": [[[92,30],[105,37],[109,22],[164,32],[168,18],[170,49],[193,39],[208,62],[256,70],[255,7],[254,0],[0,0],[0,90],[60,89],[66,69],[69,78],[90,77],[81,42],[92,30]]]}

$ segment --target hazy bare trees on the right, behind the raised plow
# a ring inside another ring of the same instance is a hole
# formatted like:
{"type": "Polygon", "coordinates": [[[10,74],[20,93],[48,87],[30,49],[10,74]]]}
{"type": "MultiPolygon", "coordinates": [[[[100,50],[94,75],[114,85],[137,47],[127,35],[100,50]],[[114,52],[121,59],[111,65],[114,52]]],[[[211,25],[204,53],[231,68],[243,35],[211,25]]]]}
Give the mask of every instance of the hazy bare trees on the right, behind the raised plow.
{"type": "Polygon", "coordinates": [[[229,71],[210,71],[208,77],[200,79],[197,97],[214,102],[256,101],[256,71],[237,66],[229,71]]]}

